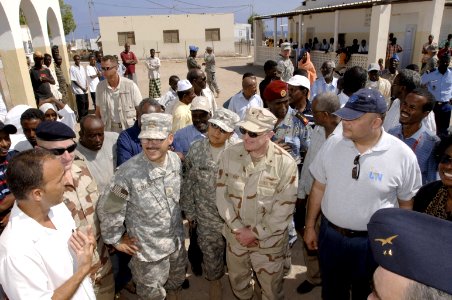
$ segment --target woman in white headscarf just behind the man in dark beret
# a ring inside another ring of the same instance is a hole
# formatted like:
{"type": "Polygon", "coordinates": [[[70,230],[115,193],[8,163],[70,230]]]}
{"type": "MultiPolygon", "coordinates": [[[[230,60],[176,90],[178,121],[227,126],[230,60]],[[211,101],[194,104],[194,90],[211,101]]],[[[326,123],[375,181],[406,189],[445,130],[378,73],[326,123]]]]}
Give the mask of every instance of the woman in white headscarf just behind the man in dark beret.
{"type": "Polygon", "coordinates": [[[41,104],[39,110],[44,113],[44,120],[62,122],[74,130],[77,118],[69,105],[51,98],[48,102],[41,104]]]}

